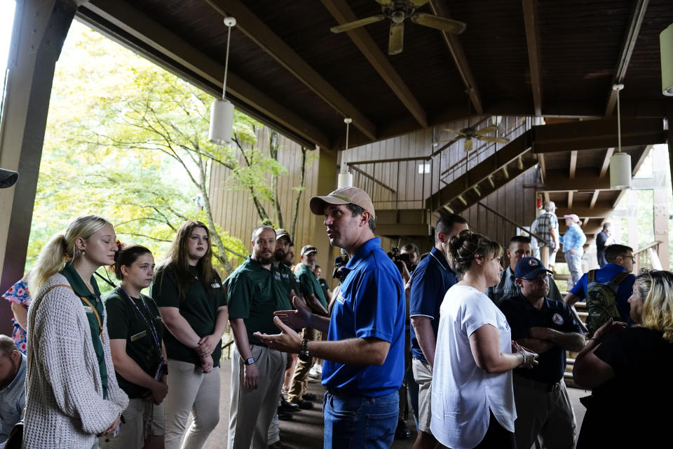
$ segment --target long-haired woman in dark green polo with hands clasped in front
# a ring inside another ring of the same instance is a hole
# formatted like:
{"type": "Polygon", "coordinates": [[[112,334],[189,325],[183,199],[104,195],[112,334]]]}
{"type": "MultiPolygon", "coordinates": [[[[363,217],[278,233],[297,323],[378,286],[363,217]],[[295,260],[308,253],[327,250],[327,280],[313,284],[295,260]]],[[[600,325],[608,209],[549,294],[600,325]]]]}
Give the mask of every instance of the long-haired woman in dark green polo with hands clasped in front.
{"type": "Polygon", "coordinates": [[[222,281],[211,260],[208,227],[188,220],[177,230],[150,290],[168,330],[167,449],[181,447],[192,410],[182,449],[202,447],[219,422],[219,359],[227,313],[222,281]]]}

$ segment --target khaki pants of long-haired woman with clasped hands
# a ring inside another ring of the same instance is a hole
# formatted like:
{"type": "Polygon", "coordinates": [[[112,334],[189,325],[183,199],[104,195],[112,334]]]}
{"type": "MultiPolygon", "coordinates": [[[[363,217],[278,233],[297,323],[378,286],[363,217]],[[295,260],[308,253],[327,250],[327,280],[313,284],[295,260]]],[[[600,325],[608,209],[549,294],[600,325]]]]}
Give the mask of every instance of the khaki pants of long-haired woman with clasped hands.
{"type": "Polygon", "coordinates": [[[203,373],[200,366],[169,360],[165,449],[200,449],[219,422],[219,367],[203,373]],[[189,413],[194,420],[180,445],[189,413]]]}

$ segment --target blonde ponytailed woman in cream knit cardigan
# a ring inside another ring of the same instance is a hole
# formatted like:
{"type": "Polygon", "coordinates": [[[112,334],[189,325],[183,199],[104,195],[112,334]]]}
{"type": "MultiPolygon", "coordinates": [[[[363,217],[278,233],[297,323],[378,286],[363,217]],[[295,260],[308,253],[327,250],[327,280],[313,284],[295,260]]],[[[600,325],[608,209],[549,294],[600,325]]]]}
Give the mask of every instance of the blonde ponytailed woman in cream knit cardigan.
{"type": "Polygon", "coordinates": [[[118,429],[128,396],[114,376],[93,277],[114,262],[115,237],[103,217],[77,217],[42,248],[30,273],[26,448],[97,448],[98,436],[118,429]]]}

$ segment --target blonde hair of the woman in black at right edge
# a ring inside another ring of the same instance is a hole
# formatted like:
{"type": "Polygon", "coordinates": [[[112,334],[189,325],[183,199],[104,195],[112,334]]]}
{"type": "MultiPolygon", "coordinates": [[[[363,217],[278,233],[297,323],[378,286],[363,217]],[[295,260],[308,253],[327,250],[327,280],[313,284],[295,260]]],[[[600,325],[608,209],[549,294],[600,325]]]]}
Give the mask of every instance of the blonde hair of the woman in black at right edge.
{"type": "Polygon", "coordinates": [[[643,327],[663,333],[673,343],[673,273],[651,270],[636,278],[643,304],[643,327]]]}

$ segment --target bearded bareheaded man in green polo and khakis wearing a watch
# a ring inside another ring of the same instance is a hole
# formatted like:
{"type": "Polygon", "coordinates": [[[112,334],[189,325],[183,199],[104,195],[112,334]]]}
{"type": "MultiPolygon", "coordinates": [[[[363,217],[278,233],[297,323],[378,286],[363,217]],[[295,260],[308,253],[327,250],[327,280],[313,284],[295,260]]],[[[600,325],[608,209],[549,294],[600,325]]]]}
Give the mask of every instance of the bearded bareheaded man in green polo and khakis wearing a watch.
{"type": "Polygon", "coordinates": [[[268,349],[256,331],[275,333],[273,312],[285,307],[282,276],[271,263],[276,231],[261,226],[252,232],[252,255],[228,280],[229,323],[236,347],[231,358],[229,449],[264,448],[278,408],[287,354],[268,349]]]}

